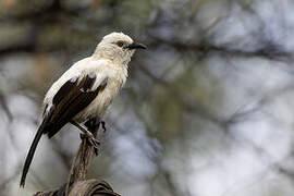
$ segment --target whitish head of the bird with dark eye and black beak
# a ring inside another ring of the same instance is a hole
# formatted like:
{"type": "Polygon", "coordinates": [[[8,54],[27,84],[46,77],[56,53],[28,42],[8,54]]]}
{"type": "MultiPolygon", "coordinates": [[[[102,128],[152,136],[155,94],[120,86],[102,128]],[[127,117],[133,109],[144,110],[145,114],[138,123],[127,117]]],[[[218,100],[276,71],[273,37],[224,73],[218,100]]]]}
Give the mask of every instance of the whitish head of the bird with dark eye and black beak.
{"type": "Polygon", "coordinates": [[[123,33],[111,33],[103,37],[97,46],[94,57],[105,58],[118,65],[127,65],[135,49],[146,49],[142,44],[136,44],[123,33]]]}

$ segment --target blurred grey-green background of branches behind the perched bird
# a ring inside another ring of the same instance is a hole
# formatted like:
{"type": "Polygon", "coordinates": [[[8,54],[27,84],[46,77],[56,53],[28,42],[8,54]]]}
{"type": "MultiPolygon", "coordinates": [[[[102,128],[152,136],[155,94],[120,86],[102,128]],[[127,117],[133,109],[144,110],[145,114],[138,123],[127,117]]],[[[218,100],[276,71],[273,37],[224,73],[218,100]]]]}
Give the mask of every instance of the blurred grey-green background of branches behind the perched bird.
{"type": "Polygon", "coordinates": [[[79,144],[44,137],[45,93],[100,39],[148,46],[109,109],[89,177],[123,196],[294,195],[294,1],[0,0],[0,195],[66,181],[79,144]]]}

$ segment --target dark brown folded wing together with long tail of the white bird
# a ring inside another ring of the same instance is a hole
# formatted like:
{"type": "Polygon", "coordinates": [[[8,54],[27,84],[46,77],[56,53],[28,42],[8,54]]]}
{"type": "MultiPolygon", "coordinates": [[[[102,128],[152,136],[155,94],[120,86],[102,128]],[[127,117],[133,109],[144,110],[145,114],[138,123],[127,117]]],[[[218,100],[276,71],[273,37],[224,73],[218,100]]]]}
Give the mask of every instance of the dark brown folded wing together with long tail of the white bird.
{"type": "MultiPolygon", "coordinates": [[[[49,109],[49,112],[44,114],[42,122],[27,154],[21,186],[25,184],[25,177],[41,135],[48,134],[49,138],[51,138],[78,112],[85,109],[97,97],[99,91],[105,89],[107,78],[96,89],[91,90],[95,81],[95,74],[85,75],[83,78],[73,77],[54,95],[52,107],[49,109]]],[[[47,106],[45,109],[47,109],[47,106]]]]}

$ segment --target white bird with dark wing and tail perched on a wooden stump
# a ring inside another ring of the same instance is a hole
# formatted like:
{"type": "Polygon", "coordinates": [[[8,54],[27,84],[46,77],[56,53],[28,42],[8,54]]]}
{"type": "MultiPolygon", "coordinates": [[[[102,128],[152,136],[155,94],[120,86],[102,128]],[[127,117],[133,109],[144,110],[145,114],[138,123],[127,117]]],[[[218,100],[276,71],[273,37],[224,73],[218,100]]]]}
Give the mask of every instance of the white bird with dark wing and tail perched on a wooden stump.
{"type": "Polygon", "coordinates": [[[25,186],[29,166],[42,135],[51,138],[66,123],[71,123],[97,148],[98,140],[84,125],[100,122],[126,82],[128,62],[135,50],[146,48],[130,36],[113,32],[101,39],[90,57],[74,63],[52,84],[44,98],[41,123],[24,162],[21,187],[25,186]]]}

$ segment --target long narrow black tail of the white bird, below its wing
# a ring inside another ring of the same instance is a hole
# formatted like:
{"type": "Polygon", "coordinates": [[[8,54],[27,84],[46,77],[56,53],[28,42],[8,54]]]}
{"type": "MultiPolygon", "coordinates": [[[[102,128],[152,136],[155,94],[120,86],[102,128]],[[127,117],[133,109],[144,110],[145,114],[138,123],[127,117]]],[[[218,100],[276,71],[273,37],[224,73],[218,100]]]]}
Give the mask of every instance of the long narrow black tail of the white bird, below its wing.
{"type": "Polygon", "coordinates": [[[22,186],[24,187],[24,185],[25,185],[25,177],[26,177],[26,174],[28,172],[28,169],[29,169],[29,166],[32,163],[35,150],[36,150],[37,145],[38,145],[40,138],[41,138],[42,133],[44,133],[44,123],[39,126],[39,128],[38,128],[38,131],[37,131],[37,133],[35,135],[35,138],[34,138],[34,140],[33,140],[33,143],[30,145],[28,154],[26,156],[24,168],[23,168],[23,174],[22,174],[22,179],[21,179],[21,184],[20,184],[21,187],[22,186]]]}

